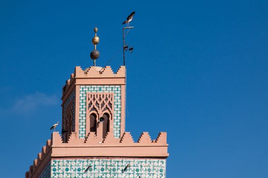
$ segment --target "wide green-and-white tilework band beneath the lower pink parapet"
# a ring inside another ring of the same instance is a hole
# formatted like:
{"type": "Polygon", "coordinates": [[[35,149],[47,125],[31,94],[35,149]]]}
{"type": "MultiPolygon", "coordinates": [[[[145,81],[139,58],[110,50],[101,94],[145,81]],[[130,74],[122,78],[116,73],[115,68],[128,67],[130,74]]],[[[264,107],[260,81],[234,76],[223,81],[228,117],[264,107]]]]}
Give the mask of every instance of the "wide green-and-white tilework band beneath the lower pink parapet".
{"type": "Polygon", "coordinates": [[[165,177],[165,159],[52,160],[51,177],[165,177]],[[125,171],[126,165],[130,164],[125,171]],[[88,166],[92,166],[88,168],[88,166]],[[86,169],[88,170],[86,171],[86,169]]]}

